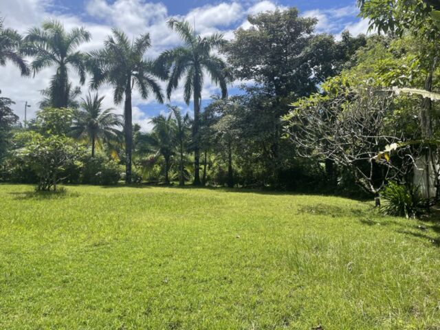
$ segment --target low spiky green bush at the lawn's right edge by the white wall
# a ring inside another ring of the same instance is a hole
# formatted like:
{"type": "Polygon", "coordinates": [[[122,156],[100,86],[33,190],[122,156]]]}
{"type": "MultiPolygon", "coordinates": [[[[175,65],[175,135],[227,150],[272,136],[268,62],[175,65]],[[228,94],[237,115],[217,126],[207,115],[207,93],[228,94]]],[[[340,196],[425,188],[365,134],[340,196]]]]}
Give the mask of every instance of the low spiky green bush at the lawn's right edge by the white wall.
{"type": "Polygon", "coordinates": [[[417,217],[421,211],[421,197],[413,186],[397,184],[390,181],[380,197],[383,200],[381,212],[407,219],[417,217]]]}

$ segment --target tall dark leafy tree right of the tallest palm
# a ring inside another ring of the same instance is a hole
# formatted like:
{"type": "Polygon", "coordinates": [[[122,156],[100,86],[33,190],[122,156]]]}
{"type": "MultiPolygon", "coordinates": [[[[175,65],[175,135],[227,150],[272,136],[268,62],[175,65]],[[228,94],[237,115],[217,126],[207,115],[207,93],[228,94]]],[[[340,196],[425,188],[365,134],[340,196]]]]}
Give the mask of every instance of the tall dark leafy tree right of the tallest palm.
{"type": "Polygon", "coordinates": [[[325,79],[340,73],[366,40],[348,32],[338,42],[330,34],[315,34],[317,20],[301,17],[296,8],[251,15],[248,21],[251,28],[236,30],[234,40],[222,48],[236,78],[256,82],[245,87],[241,99],[247,111],[240,111],[238,118],[248,123],[242,130],[248,148],[240,156],[254,177],[259,168],[265,184],[278,185],[285,181],[282,172],[295,150],[280,138],[281,116],[289,103],[318,91],[325,79]]]}

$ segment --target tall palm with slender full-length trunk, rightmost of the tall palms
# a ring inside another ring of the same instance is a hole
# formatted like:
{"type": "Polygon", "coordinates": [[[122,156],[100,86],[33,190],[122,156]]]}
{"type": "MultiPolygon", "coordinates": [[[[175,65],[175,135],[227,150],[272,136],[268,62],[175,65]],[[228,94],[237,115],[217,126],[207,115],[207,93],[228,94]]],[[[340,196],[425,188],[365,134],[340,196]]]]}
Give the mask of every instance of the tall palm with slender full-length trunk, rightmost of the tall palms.
{"type": "Polygon", "coordinates": [[[223,43],[223,34],[212,34],[211,36],[201,37],[195,33],[187,21],[177,21],[170,19],[168,27],[179,34],[184,45],[173,50],[163,52],[157,58],[158,69],[168,73],[168,85],[166,95],[170,99],[171,93],[179,85],[179,81],[184,78],[184,100],[186,104],[192,100],[194,102],[194,122],[192,124],[192,139],[194,140],[194,184],[200,184],[199,175],[199,115],[201,91],[203,89],[203,69],[208,72],[211,80],[219,85],[221,95],[226,97],[228,94],[227,72],[225,62],[217,55],[212,54],[212,50],[217,49],[223,43]]]}

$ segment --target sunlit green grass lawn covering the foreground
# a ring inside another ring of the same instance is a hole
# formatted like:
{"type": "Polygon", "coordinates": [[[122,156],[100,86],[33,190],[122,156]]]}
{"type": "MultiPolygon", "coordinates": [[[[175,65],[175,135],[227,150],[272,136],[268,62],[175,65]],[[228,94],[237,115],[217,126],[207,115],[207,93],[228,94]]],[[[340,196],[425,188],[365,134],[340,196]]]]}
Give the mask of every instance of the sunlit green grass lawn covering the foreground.
{"type": "Polygon", "coordinates": [[[371,203],[0,185],[0,210],[0,329],[440,329],[440,226],[371,203]]]}

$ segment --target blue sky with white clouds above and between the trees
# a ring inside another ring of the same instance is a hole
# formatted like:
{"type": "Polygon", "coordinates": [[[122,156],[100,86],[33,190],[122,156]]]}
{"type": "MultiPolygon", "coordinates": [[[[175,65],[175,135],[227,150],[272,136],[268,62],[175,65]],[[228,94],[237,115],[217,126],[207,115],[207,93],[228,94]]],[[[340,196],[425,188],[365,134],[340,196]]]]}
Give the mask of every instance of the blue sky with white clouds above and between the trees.
{"type": "MultiPolygon", "coordinates": [[[[112,27],[124,30],[130,37],[149,32],[153,47],[147,56],[154,58],[160,52],[179,45],[179,38],[166,27],[170,17],[178,19],[195,19],[197,32],[210,34],[222,32],[226,39],[234,37],[236,28],[249,28],[246,17],[248,14],[296,6],[300,14],[318,18],[317,32],[338,34],[349,30],[352,34],[366,32],[366,22],[358,17],[356,0],[325,1],[325,0],[0,0],[0,15],[5,17],[5,25],[26,31],[36,25],[41,25],[45,18],[61,20],[66,30],[84,26],[91,32],[93,39],[81,46],[81,50],[89,52],[102,47],[102,41],[111,32],[112,27]]],[[[12,65],[0,67],[0,89],[2,96],[12,98],[17,104],[14,110],[23,118],[25,101],[32,107],[28,116],[32,118],[41,100],[39,91],[49,83],[54,68],[47,68],[35,78],[21,78],[12,65]]],[[[78,85],[78,77],[70,74],[74,85],[78,85]]],[[[230,94],[236,93],[237,84],[230,86],[230,94]]],[[[87,93],[87,85],[82,87],[83,94],[87,93]]],[[[206,79],[203,90],[203,104],[210,96],[217,93],[217,88],[206,79]]],[[[99,93],[106,96],[107,107],[115,107],[122,113],[121,104],[113,104],[110,87],[103,87],[99,93]]],[[[177,89],[170,103],[179,105],[183,111],[190,107],[182,102],[182,91],[177,89]]],[[[144,130],[151,128],[151,116],[166,111],[166,106],[157,104],[153,98],[142,100],[139,95],[133,95],[133,120],[141,124],[144,130]]]]}

